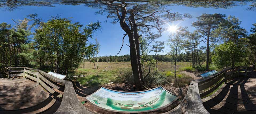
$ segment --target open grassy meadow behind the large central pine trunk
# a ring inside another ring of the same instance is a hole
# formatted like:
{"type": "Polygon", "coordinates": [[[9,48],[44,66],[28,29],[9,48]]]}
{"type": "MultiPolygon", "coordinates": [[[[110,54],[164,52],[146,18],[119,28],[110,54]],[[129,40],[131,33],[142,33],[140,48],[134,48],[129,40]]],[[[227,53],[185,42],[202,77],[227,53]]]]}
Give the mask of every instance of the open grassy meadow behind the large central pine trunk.
{"type": "MultiPolygon", "coordinates": [[[[101,86],[110,82],[123,83],[126,78],[129,79],[132,75],[130,62],[98,62],[98,66],[98,69],[94,69],[94,63],[86,62],[85,68],[83,68],[83,64],[81,64],[75,71],[75,75],[83,75],[84,77],[78,77],[76,80],[83,86],[101,86]]],[[[177,62],[177,71],[184,67],[190,67],[190,63],[177,62]]],[[[159,62],[158,71],[163,76],[173,77],[174,64],[171,62],[164,62],[164,64],[159,62]]],[[[177,76],[181,78],[184,74],[179,74],[178,72],[177,76]]]]}

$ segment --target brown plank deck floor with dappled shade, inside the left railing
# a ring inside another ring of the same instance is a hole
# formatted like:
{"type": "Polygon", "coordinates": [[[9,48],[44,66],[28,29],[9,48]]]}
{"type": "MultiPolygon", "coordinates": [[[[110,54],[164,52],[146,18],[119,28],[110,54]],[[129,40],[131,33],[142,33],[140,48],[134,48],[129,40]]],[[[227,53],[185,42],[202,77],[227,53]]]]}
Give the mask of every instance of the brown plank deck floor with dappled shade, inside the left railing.
{"type": "Polygon", "coordinates": [[[61,102],[26,78],[0,79],[1,114],[54,113],[61,102]]]}

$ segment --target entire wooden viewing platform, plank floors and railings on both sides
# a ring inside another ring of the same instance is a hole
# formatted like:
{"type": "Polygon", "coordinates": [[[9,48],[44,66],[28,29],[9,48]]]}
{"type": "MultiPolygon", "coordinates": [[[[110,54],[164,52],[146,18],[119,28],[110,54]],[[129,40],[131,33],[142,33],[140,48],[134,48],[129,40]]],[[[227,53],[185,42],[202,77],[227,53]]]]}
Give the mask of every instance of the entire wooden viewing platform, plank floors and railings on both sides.
{"type": "MultiPolygon", "coordinates": [[[[81,104],[72,82],[27,67],[6,74],[23,78],[0,79],[0,114],[98,114],[81,104]]],[[[255,114],[256,71],[248,74],[235,67],[193,80],[182,102],[163,114],[255,114]]]]}

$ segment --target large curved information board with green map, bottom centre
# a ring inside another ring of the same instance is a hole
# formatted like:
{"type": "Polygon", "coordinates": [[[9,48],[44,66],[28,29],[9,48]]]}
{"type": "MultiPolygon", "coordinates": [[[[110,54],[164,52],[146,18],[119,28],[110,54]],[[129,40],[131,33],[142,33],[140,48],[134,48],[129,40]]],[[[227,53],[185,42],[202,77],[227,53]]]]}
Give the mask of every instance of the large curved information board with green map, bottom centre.
{"type": "Polygon", "coordinates": [[[114,112],[148,112],[164,108],[177,96],[162,87],[140,92],[121,92],[101,87],[86,97],[99,108],[114,112]]]}

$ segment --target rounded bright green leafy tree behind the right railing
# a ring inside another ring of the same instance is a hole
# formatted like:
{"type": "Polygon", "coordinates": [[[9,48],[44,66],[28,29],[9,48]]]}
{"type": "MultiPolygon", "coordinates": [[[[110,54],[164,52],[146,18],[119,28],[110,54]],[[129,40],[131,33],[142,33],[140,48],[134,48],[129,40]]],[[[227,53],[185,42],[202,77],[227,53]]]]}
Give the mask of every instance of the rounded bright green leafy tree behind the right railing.
{"type": "Polygon", "coordinates": [[[235,45],[234,42],[229,41],[218,45],[215,48],[215,55],[213,62],[220,69],[233,67],[233,61],[230,58],[234,57],[235,65],[240,65],[243,62],[243,51],[241,46],[235,45]],[[235,55],[235,56],[234,56],[235,55]]]}

